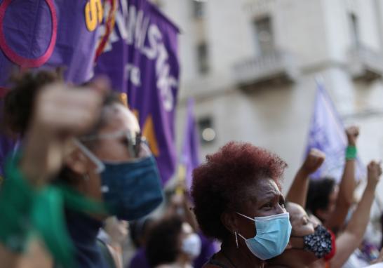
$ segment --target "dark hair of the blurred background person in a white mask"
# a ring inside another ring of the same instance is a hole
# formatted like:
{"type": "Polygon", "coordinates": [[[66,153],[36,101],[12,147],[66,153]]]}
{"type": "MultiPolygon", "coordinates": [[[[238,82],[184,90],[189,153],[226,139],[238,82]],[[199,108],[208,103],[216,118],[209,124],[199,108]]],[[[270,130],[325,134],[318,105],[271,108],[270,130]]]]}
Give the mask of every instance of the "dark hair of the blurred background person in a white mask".
{"type": "Polygon", "coordinates": [[[159,221],[149,232],[146,255],[150,267],[175,262],[180,254],[180,217],[168,217],[159,221]]]}

